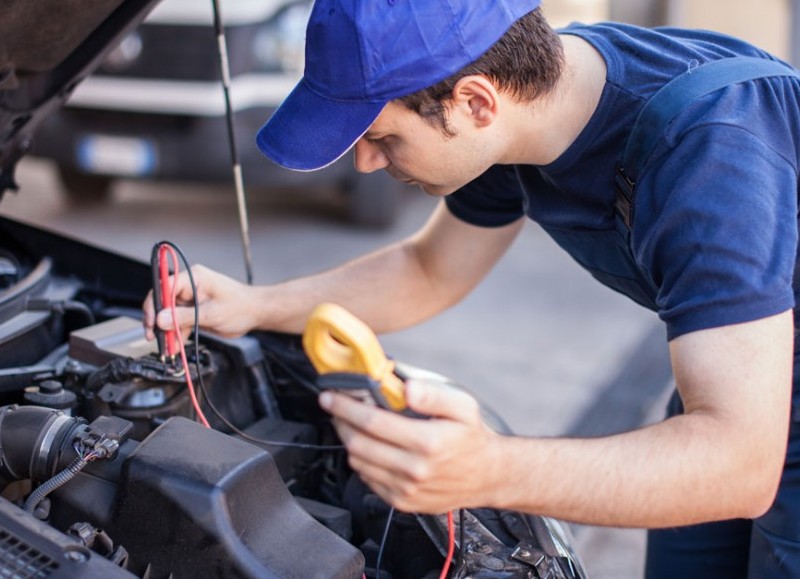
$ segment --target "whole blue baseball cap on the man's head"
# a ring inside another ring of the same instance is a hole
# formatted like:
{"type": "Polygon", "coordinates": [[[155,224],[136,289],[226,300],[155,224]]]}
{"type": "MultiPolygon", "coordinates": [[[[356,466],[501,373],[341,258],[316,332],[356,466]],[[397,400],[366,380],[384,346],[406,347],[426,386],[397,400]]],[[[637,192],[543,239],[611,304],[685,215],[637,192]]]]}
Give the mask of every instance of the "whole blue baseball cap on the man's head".
{"type": "Polygon", "coordinates": [[[258,148],[288,169],[330,165],[386,103],[474,62],[539,3],[316,0],[303,78],[258,131],[258,148]]]}

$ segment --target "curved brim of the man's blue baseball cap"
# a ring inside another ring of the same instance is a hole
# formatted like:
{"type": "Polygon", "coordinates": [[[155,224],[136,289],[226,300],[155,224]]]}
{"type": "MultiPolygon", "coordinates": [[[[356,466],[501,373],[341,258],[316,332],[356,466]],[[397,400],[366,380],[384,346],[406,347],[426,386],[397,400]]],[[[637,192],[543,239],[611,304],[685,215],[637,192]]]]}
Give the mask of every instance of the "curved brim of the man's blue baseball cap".
{"type": "Polygon", "coordinates": [[[322,169],[350,150],[384,106],[384,102],[330,100],[301,80],[259,129],[256,143],[287,169],[322,169]]]}

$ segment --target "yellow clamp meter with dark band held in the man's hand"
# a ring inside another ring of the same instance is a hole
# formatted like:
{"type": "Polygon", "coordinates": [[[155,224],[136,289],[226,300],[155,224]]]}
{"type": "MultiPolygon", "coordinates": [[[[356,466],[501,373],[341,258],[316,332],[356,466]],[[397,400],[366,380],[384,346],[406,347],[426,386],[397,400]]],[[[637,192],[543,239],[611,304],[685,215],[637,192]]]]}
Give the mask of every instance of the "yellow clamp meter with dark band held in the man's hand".
{"type": "Polygon", "coordinates": [[[320,389],[347,392],[395,412],[406,410],[403,380],[375,333],[341,306],[318,305],[303,332],[303,348],[320,377],[320,389]]]}

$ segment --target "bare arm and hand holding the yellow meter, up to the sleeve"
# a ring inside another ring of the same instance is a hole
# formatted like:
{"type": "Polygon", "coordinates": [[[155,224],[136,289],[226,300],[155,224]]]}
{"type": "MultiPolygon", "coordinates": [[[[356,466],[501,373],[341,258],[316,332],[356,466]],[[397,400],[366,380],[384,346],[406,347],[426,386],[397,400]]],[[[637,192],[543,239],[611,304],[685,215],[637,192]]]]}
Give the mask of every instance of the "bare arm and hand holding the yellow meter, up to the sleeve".
{"type": "Polygon", "coordinates": [[[755,517],[785,458],[792,316],[695,332],[671,345],[686,413],[595,439],[504,437],[460,392],[412,385],[412,422],[324,395],[351,463],[400,509],[494,506],[589,524],[663,527],[755,517]],[[414,387],[416,386],[416,387],[414,387]]]}

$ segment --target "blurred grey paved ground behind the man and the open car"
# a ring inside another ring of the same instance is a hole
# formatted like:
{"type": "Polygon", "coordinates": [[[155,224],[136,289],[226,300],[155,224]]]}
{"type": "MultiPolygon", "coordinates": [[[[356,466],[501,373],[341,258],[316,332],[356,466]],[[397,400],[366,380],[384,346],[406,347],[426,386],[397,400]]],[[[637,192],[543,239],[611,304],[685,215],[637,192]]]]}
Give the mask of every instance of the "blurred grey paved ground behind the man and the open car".
{"type": "MultiPolygon", "coordinates": [[[[229,187],[120,183],[108,204],[73,207],[47,163],[24,161],[18,181],[22,191],[7,194],[5,215],[142,260],[154,242],[168,239],[192,262],[244,278],[229,187]]],[[[313,200],[286,192],[249,197],[256,283],[330,267],[399,239],[433,206],[413,192],[396,226],[370,232],[345,224],[325,192],[313,200]]],[[[461,304],[382,340],[396,358],[462,383],[525,435],[603,434],[630,417],[654,420],[668,386],[655,316],[594,282],[533,224],[461,304]]],[[[641,531],[575,533],[590,577],[641,576],[641,531]]]]}

